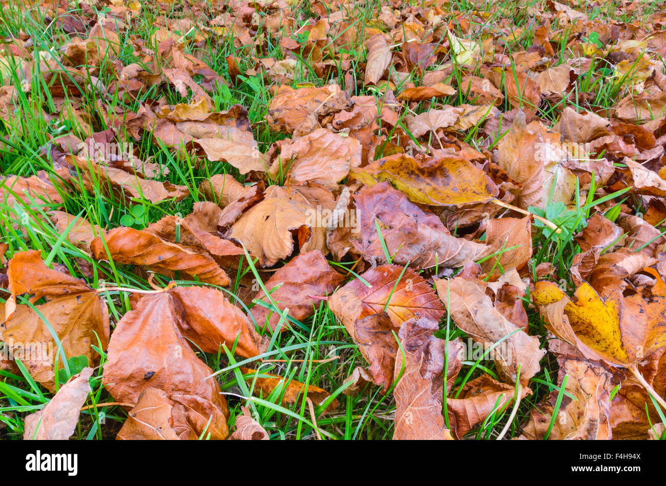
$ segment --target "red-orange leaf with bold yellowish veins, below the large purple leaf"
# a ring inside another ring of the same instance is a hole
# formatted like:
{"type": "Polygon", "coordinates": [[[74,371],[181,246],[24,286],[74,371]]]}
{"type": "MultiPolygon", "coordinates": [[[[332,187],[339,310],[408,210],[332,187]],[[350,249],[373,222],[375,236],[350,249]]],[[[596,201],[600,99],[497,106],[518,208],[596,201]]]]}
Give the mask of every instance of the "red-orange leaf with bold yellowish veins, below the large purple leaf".
{"type": "Polygon", "coordinates": [[[370,287],[354,279],[328,299],[330,310],[348,330],[356,320],[382,312],[384,307],[395,327],[411,318],[440,320],[444,316],[444,306],[432,285],[410,268],[403,273],[399,265],[381,265],[361,277],[370,287]]]}

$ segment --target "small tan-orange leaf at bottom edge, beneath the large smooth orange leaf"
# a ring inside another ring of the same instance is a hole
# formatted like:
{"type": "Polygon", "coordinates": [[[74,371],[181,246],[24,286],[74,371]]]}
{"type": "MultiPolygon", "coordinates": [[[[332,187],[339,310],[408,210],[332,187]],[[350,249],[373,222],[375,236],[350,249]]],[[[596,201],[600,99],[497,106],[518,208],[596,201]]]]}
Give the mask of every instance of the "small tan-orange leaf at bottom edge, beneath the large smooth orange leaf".
{"type": "Polygon", "coordinates": [[[172,408],[163,390],[147,388],[127,413],[116,440],[178,440],[172,428],[172,408]]]}

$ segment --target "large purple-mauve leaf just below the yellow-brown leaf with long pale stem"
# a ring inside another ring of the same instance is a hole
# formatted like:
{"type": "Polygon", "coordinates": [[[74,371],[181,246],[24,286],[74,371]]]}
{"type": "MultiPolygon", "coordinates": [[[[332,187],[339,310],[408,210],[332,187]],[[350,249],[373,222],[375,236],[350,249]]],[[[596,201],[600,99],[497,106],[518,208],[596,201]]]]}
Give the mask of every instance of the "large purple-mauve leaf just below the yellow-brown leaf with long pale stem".
{"type": "Polygon", "coordinates": [[[354,201],[358,231],[351,231],[349,240],[371,263],[387,261],[382,241],[393,262],[418,269],[462,267],[491,250],[483,243],[454,237],[432,211],[421,209],[388,182],[364,187],[354,201]]]}

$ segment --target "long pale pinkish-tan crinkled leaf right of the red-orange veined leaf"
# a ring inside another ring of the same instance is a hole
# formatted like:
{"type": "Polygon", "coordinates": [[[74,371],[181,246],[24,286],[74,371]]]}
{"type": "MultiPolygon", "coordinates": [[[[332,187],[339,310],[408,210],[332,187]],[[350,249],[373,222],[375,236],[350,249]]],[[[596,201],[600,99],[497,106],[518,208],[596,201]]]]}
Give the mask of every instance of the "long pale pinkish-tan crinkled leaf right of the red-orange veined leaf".
{"type": "Polygon", "coordinates": [[[539,349],[539,339],[529,336],[508,320],[486,295],[488,285],[476,278],[436,279],[437,293],[446,304],[456,326],[488,348],[505,338],[494,349],[500,370],[515,383],[525,384],[539,372],[539,360],[546,350],[539,349]],[[508,336],[508,337],[507,337],[508,336]]]}

